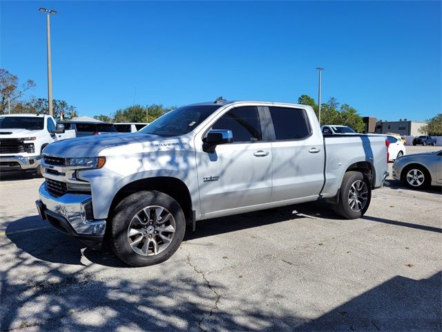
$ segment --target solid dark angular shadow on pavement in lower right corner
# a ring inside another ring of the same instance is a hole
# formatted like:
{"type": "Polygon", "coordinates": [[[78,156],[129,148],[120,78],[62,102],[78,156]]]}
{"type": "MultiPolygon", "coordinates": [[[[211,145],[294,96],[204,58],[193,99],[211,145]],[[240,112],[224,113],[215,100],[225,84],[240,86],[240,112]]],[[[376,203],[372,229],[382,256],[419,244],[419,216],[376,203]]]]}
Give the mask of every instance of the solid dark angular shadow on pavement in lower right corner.
{"type": "Polygon", "coordinates": [[[398,275],[298,329],[441,331],[441,289],[442,272],[421,280],[398,275]]]}

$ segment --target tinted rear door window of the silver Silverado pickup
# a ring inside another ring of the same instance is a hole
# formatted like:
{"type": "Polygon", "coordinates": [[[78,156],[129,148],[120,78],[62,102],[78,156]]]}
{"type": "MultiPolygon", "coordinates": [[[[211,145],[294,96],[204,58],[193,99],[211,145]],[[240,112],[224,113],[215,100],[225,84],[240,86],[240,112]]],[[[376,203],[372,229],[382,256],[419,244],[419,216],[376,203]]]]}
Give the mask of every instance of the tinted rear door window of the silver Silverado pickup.
{"type": "Polygon", "coordinates": [[[300,140],[310,136],[307,114],[303,109],[269,107],[277,140],[300,140]]]}

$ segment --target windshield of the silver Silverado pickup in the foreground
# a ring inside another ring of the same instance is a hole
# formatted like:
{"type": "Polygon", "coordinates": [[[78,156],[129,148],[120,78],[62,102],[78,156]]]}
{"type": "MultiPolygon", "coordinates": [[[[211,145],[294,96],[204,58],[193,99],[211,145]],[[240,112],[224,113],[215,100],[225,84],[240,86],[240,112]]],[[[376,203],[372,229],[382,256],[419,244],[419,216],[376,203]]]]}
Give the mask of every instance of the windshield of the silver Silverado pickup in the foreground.
{"type": "Polygon", "coordinates": [[[211,115],[220,105],[193,105],[174,109],[141,129],[140,133],[158,136],[180,136],[189,133],[211,115]]]}

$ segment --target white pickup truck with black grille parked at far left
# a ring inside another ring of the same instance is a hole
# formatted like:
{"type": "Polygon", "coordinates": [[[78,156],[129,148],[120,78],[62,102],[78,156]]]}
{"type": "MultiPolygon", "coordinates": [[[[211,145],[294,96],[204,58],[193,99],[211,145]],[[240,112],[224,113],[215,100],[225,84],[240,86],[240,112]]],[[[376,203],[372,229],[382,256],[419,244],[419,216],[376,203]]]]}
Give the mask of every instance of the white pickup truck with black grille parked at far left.
{"type": "Polygon", "coordinates": [[[52,116],[6,114],[0,116],[0,171],[40,172],[41,152],[50,143],[75,138],[52,116]]]}

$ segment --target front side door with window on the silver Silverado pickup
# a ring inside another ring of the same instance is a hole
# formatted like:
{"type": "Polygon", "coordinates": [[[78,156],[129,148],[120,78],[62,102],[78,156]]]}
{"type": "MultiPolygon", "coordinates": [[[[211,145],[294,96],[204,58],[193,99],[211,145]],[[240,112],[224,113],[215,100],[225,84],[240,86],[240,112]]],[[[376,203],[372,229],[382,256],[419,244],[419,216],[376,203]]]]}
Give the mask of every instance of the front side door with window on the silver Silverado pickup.
{"type": "Polygon", "coordinates": [[[211,129],[231,130],[233,143],[218,145],[210,154],[195,141],[202,214],[268,203],[271,143],[262,142],[258,108],[230,109],[211,129]]]}

